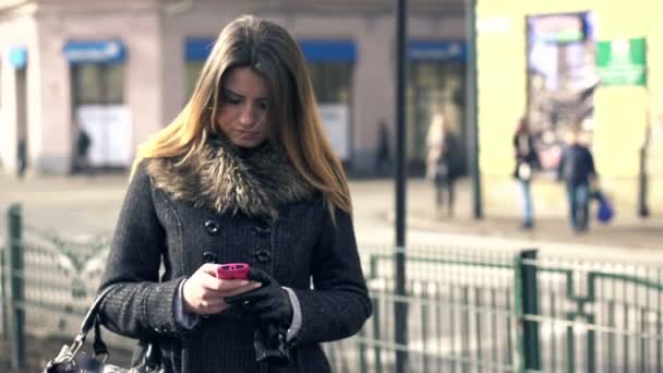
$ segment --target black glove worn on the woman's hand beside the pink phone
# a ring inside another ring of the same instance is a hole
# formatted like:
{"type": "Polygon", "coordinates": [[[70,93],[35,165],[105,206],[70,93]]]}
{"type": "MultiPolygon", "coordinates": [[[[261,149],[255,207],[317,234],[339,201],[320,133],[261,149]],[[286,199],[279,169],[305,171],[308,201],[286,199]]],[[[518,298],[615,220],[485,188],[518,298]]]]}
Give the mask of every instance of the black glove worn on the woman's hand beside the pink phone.
{"type": "Polygon", "coordinates": [[[262,269],[251,268],[249,279],[262,287],[234,297],[226,298],[228,304],[240,305],[252,313],[258,324],[273,324],[288,328],[292,323],[290,297],[276,280],[262,269]]]}

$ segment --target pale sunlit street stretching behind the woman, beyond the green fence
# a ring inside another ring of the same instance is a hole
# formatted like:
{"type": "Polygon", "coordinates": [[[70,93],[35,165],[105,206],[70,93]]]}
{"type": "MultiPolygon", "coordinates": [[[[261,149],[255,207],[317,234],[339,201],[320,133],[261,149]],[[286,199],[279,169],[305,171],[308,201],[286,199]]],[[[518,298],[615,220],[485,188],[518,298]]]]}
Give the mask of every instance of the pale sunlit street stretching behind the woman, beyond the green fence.
{"type": "MultiPolygon", "coordinates": [[[[111,233],[121,206],[125,175],[95,177],[32,177],[24,181],[0,177],[0,206],[19,202],[28,227],[58,232],[64,237],[94,237],[111,233]]],[[[408,246],[466,246],[482,250],[513,251],[539,249],[554,256],[584,256],[663,263],[663,218],[647,220],[629,215],[628,206],[617,206],[620,215],[607,226],[592,224],[586,234],[576,234],[567,226],[566,203],[544,203],[542,216],[531,231],[521,230],[515,185],[485,185],[485,217],[470,216],[469,182],[457,185],[455,217],[435,218],[432,186],[422,179],[410,179],[407,200],[408,246]],[[491,193],[504,195],[493,202],[491,193]],[[505,207],[505,206],[511,207],[505,207]]],[[[360,245],[390,245],[394,242],[394,183],[391,180],[355,180],[350,189],[354,204],[357,239],[360,245]]],[[[0,229],[2,234],[4,229],[0,229]]]]}

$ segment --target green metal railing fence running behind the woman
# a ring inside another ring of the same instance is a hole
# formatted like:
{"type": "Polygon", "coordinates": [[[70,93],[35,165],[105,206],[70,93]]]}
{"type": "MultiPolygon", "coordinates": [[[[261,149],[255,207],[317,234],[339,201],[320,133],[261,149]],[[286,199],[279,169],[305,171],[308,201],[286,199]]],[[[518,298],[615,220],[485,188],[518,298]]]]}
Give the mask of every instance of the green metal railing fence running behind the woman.
{"type": "MultiPolygon", "coordinates": [[[[2,333],[23,363],[24,336],[73,336],[92,302],[108,239],[64,240],[10,210],[0,250],[2,333]]],[[[539,257],[535,250],[407,248],[406,296],[391,246],[362,245],[374,314],[325,345],[335,372],[661,372],[661,268],[539,257]],[[396,325],[396,304],[407,304],[396,325]],[[396,327],[407,344],[395,342],[396,327]]],[[[111,346],[133,341],[110,337],[111,346]]],[[[52,351],[53,354],[57,351],[52,351]]]]}

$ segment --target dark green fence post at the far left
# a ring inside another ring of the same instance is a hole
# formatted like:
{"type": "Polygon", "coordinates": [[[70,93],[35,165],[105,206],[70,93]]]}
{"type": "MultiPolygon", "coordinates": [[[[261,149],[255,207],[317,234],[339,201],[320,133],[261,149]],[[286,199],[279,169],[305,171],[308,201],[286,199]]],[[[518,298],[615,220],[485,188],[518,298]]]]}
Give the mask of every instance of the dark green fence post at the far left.
{"type": "Polygon", "coordinates": [[[25,365],[25,309],[21,206],[12,204],[7,214],[9,253],[9,315],[11,322],[10,350],[12,368],[25,365]]]}

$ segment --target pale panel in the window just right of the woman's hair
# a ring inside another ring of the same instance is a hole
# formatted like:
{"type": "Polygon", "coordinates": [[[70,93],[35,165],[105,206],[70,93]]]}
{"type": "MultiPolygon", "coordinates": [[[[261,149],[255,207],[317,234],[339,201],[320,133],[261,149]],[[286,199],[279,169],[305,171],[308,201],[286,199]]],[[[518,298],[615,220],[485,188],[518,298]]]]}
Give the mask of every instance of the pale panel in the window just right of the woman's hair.
{"type": "Polygon", "coordinates": [[[350,158],[350,109],[343,104],[321,104],[320,115],[332,143],[341,160],[350,158]]]}

